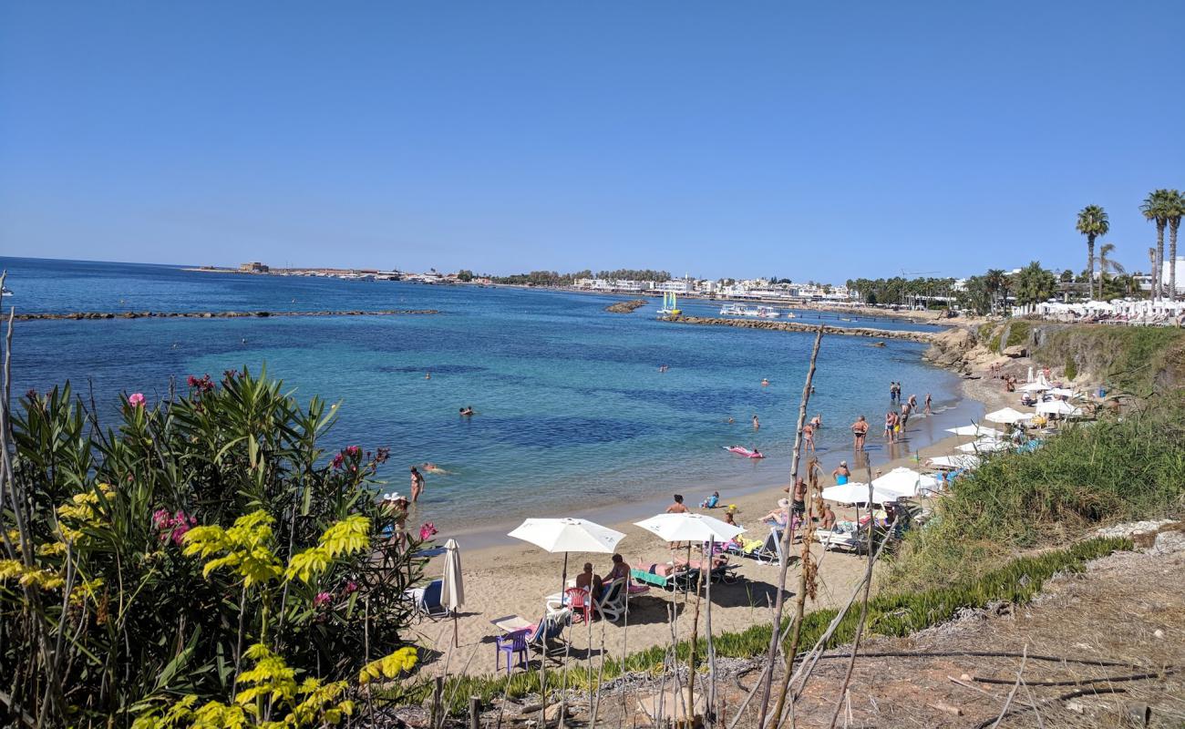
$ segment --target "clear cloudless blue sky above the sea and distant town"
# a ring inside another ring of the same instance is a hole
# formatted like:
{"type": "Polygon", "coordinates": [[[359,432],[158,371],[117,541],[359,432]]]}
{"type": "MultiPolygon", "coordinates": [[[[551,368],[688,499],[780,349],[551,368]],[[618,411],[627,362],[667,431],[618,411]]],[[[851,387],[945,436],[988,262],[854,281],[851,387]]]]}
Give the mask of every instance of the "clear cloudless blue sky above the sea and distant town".
{"type": "Polygon", "coordinates": [[[0,1],[0,251],[1085,266],[1185,187],[1185,2],[0,1]]]}

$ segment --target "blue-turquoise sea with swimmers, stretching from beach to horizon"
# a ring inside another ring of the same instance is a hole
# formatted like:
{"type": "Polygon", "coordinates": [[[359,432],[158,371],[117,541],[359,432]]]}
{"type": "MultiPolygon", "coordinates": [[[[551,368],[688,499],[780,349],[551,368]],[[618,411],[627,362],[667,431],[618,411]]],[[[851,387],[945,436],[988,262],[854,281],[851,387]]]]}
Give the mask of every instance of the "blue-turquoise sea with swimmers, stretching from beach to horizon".
{"type": "MultiPolygon", "coordinates": [[[[43,320],[15,324],[14,394],[65,382],[94,394],[111,422],[121,392],[149,404],[188,375],[267,369],[305,402],[340,402],[322,441],[386,447],[380,491],[406,493],[411,465],[431,462],[422,518],[491,533],[526,516],[646,509],[685,494],[730,495],[788,482],[795,422],[814,335],[662,322],[660,299],[630,314],[622,296],[512,287],[250,275],[91,261],[0,257],[4,298],[21,313],[436,309],[396,316],[43,320]],[[665,365],[665,371],[662,366],[665,365]],[[430,373],[430,378],[425,375],[430,373]],[[762,381],[769,384],[763,385],[762,381]],[[475,415],[461,417],[472,407],[475,415]],[[760,421],[754,429],[752,416],[760,421]],[[741,445],[767,458],[725,450],[741,445]]],[[[693,315],[719,303],[684,300],[693,315]]],[[[899,319],[799,311],[799,321],[936,331],[899,319]]],[[[851,456],[848,426],[867,416],[878,461],[916,455],[981,407],[924,345],[864,337],[822,340],[809,415],[830,472],[851,456]],[[934,399],[909,440],[879,437],[889,383],[934,399]]]]}

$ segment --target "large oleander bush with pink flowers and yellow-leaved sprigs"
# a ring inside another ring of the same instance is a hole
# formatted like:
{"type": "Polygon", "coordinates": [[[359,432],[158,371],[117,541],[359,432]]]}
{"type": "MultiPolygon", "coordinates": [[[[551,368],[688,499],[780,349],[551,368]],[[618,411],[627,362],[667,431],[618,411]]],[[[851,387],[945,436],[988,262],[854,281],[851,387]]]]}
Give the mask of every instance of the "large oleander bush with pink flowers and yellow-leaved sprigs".
{"type": "Polygon", "coordinates": [[[406,517],[374,500],[386,452],[327,453],[335,417],[245,370],[123,397],[110,428],[69,384],[25,395],[5,449],[0,723],[320,725],[360,680],[414,665],[403,593],[433,530],[383,537],[406,517]]]}

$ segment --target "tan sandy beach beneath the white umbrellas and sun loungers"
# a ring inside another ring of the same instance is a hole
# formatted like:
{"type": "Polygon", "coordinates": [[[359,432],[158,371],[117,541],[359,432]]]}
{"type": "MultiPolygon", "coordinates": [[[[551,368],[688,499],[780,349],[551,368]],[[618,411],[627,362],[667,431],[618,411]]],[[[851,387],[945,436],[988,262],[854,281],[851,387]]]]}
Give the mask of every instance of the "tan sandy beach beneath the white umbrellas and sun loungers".
{"type": "MultiPolygon", "coordinates": [[[[1003,407],[1011,402],[994,379],[965,379],[963,397],[981,402],[988,409],[1003,407]]],[[[910,430],[921,426],[914,421],[910,430]]],[[[837,427],[837,426],[831,426],[837,427]]],[[[844,426],[846,428],[846,426],[844,426]]],[[[879,435],[879,423],[873,423],[870,429],[870,446],[882,443],[879,435]]],[[[892,453],[885,447],[872,456],[872,469],[888,472],[898,466],[917,467],[918,459],[925,459],[954,453],[954,447],[972,439],[949,436],[941,439],[921,449],[920,454],[910,453],[905,458],[890,458],[892,453]]],[[[846,452],[834,449],[820,458],[820,467],[826,474],[821,478],[824,486],[834,484],[831,471],[835,468],[840,460],[854,462],[851,458],[851,448],[846,452]]],[[[803,467],[805,471],[805,467],[803,467]]],[[[875,474],[873,474],[875,475],[875,474]]],[[[853,472],[853,481],[865,481],[866,474],[863,471],[853,472]]],[[[720,503],[723,505],[735,504],[737,507],[737,522],[749,530],[749,536],[763,538],[769,533],[768,526],[761,523],[761,517],[771,511],[777,500],[784,497],[783,488],[789,484],[789,474],[786,481],[779,486],[763,488],[751,493],[731,494],[720,490],[720,503]]],[[[711,485],[702,487],[685,487],[687,506],[699,513],[710,513],[716,517],[723,516],[722,509],[705,510],[698,509],[698,503],[706,494],[711,493],[711,485]]],[[[578,495],[574,492],[574,500],[578,495]]],[[[619,513],[616,519],[600,520],[607,526],[613,526],[626,533],[619,545],[620,554],[630,564],[639,562],[649,564],[667,562],[673,556],[685,555],[685,551],[672,552],[667,544],[658,537],[634,525],[634,522],[642,520],[654,513],[661,512],[666,504],[630,505],[630,513],[619,513]]],[[[520,514],[523,517],[534,514],[520,514]]],[[[587,516],[575,503],[571,516],[587,516]]],[[[837,509],[840,519],[854,517],[851,507],[837,509]]],[[[412,517],[415,519],[415,517],[412,517]]],[[[502,532],[505,533],[505,532],[502,532]]],[[[442,535],[448,536],[448,535],[442,535]]],[[[540,549],[525,543],[485,546],[478,549],[466,549],[466,538],[459,538],[462,546],[462,574],[465,576],[465,607],[456,620],[457,646],[453,645],[454,624],[451,620],[428,620],[424,619],[417,625],[419,635],[417,641],[422,646],[431,647],[440,652],[441,659],[438,669],[443,671],[447,664],[451,673],[488,673],[494,669],[494,644],[493,637],[498,629],[492,621],[500,618],[518,615],[530,622],[539,620],[545,612],[544,600],[547,595],[559,591],[561,573],[563,568],[563,555],[547,554],[540,549]]],[[[795,545],[795,551],[800,549],[795,545]]],[[[818,544],[813,546],[814,554],[820,562],[818,599],[808,601],[807,609],[819,609],[838,607],[844,605],[866,568],[865,557],[839,551],[824,551],[818,544]]],[[[585,555],[574,554],[569,558],[569,577],[575,576],[584,562],[591,562],[594,570],[598,575],[604,575],[611,567],[610,555],[585,555]]],[[[712,632],[737,632],[754,624],[768,622],[771,619],[771,606],[776,597],[776,584],[779,567],[775,564],[758,564],[749,558],[732,557],[731,562],[739,565],[737,574],[741,577],[736,583],[717,583],[712,586],[712,632]]],[[[442,570],[442,559],[433,558],[425,570],[428,577],[438,577],[442,570]]],[[[798,569],[792,564],[787,577],[787,586],[798,584],[798,569]]],[[[792,588],[793,589],[793,588],[792,588]]],[[[788,596],[793,594],[788,591],[788,596]]],[[[649,646],[670,641],[671,628],[668,624],[668,609],[674,609],[680,614],[677,621],[680,638],[691,633],[691,612],[683,616],[685,610],[692,608],[694,599],[688,599],[683,594],[672,594],[652,589],[649,593],[630,599],[630,609],[627,624],[611,624],[607,621],[595,621],[591,635],[584,626],[576,626],[571,631],[572,650],[577,656],[587,654],[591,650],[594,653],[603,650],[609,656],[623,656],[649,646]],[[590,644],[591,640],[591,644],[590,644]]],[[[704,631],[704,619],[700,618],[699,632],[704,631]]]]}

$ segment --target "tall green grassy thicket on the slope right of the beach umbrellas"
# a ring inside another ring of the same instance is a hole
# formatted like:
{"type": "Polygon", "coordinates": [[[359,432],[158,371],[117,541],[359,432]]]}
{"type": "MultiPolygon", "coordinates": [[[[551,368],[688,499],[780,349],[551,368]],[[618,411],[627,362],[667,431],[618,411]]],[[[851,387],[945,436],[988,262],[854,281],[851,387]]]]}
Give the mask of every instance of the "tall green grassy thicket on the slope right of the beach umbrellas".
{"type": "Polygon", "coordinates": [[[1031,453],[985,459],[955,482],[888,570],[912,589],[993,569],[1019,550],[1064,544],[1100,523],[1185,510],[1185,405],[1069,428],[1031,453]]]}

